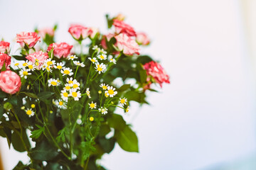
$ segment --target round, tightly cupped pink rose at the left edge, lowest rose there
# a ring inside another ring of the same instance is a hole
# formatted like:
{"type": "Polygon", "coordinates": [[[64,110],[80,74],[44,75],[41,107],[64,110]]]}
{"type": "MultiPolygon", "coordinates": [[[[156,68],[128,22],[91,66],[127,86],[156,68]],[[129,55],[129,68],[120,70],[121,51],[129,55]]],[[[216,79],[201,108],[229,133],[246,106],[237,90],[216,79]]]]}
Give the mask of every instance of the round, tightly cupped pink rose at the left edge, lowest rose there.
{"type": "Polygon", "coordinates": [[[0,89],[7,94],[15,94],[21,88],[21,77],[15,72],[7,70],[0,72],[0,89]]]}

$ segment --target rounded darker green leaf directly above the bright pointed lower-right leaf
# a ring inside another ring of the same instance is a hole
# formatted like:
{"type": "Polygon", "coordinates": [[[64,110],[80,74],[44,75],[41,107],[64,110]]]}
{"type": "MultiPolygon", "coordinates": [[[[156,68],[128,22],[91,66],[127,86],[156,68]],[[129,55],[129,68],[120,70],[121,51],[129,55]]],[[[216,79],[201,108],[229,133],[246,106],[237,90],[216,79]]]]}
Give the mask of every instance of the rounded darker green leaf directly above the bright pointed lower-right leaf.
{"type": "Polygon", "coordinates": [[[115,130],[124,130],[126,123],[122,118],[122,115],[112,114],[110,118],[107,118],[107,123],[111,128],[115,130]]]}

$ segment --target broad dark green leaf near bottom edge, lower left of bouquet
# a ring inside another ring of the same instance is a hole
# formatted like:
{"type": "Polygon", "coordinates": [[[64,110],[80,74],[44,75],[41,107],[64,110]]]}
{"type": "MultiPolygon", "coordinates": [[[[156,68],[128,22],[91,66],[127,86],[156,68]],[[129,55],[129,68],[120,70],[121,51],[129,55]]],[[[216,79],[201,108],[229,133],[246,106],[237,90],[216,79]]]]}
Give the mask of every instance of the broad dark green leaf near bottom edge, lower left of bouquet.
{"type": "Polygon", "coordinates": [[[46,140],[36,143],[36,147],[31,151],[31,157],[39,161],[50,161],[58,155],[58,152],[46,140]]]}

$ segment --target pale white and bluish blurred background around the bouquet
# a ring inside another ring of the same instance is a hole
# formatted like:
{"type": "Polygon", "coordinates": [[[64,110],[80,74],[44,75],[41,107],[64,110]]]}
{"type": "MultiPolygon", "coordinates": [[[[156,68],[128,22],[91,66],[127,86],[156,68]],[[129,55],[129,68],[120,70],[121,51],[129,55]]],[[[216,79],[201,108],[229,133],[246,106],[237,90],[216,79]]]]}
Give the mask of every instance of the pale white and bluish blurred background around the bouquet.
{"type": "MultiPolygon", "coordinates": [[[[126,119],[139,154],[115,145],[99,162],[110,170],[256,169],[255,0],[0,0],[0,38],[58,23],[57,42],[73,43],[71,23],[107,33],[105,14],[122,13],[151,45],[142,49],[171,76],[151,106],[133,103],[126,119]]],[[[0,137],[5,169],[26,154],[0,137]]]]}

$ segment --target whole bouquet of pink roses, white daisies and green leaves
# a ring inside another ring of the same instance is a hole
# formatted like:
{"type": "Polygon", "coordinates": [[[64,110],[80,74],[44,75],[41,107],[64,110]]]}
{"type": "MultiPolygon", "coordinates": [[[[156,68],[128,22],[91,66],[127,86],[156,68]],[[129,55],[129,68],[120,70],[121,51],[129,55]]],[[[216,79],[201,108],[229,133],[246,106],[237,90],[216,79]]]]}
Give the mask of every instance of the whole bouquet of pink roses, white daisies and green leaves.
{"type": "Polygon", "coordinates": [[[14,169],[105,169],[97,160],[116,143],[139,152],[123,116],[130,101],[148,104],[151,85],[170,83],[169,76],[139,54],[149,38],[124,16],[107,16],[107,26],[102,35],[71,25],[74,45],[55,42],[57,26],[18,33],[12,55],[10,43],[0,42],[0,135],[30,159],[14,169]]]}

